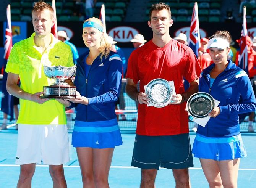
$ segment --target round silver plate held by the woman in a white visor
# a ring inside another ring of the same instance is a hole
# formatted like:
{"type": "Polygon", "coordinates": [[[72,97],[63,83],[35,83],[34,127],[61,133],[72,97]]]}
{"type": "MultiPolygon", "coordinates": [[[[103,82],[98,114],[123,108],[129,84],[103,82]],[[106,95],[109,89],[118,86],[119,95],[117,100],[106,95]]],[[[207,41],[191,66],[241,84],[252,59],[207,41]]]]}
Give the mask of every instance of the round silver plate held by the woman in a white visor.
{"type": "Polygon", "coordinates": [[[194,93],[187,102],[187,110],[194,118],[204,118],[214,109],[214,98],[205,92],[194,93]]]}

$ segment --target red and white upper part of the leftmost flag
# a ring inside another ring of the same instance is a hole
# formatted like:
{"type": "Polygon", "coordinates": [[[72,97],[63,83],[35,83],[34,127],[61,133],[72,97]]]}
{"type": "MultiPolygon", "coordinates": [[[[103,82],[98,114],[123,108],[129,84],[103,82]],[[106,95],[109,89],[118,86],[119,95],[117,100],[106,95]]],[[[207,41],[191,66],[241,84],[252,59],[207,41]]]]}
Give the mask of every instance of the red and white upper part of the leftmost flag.
{"type": "Polygon", "coordinates": [[[6,9],[6,16],[7,16],[7,22],[6,22],[6,28],[5,28],[5,53],[3,55],[4,59],[8,59],[11,48],[13,47],[13,37],[11,33],[11,6],[8,5],[6,9]]]}

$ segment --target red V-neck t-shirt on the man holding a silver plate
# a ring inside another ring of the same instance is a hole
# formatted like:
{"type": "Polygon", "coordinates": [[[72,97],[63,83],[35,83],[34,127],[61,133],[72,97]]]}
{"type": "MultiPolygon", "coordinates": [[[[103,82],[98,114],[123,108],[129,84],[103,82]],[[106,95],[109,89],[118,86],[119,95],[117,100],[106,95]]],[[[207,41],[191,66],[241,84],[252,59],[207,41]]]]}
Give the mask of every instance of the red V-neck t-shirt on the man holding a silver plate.
{"type": "MultiPolygon", "coordinates": [[[[191,82],[199,77],[201,68],[191,48],[173,39],[163,48],[152,40],[134,50],[128,60],[127,78],[137,83],[140,92],[151,80],[162,78],[174,81],[176,93],[184,93],[183,77],[191,82]]],[[[186,103],[163,108],[147,104],[138,106],[138,135],[177,135],[188,133],[186,103]]]]}

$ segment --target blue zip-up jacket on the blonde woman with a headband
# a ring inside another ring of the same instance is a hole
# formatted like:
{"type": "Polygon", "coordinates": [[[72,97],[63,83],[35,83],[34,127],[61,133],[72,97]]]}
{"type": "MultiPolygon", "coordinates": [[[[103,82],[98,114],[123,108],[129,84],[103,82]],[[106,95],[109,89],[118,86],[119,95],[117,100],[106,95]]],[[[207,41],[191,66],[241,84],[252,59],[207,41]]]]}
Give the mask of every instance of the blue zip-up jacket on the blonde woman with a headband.
{"type": "MultiPolygon", "coordinates": [[[[115,101],[118,99],[121,79],[122,61],[115,52],[110,52],[107,59],[100,55],[93,61],[88,77],[85,74],[84,58],[89,51],[77,59],[74,84],[81,96],[89,100],[88,105],[76,104],[76,120],[105,121],[115,119],[115,101]]],[[[73,106],[71,106],[73,107],[73,106]]]]}

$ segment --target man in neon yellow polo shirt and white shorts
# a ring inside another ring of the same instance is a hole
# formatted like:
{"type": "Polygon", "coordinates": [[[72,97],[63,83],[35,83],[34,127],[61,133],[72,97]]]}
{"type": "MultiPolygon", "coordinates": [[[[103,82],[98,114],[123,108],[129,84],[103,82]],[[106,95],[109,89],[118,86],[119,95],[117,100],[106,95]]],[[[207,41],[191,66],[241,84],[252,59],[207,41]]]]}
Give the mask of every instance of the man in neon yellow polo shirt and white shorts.
{"type": "Polygon", "coordinates": [[[5,71],[7,91],[20,98],[16,164],[21,165],[18,188],[31,187],[36,163],[49,164],[53,187],[66,188],[63,163],[69,161],[65,106],[69,101],[41,99],[44,85],[54,82],[45,76],[43,65],[73,66],[68,45],[50,32],[55,23],[53,8],[36,2],[32,10],[35,33],[13,46],[5,71]],[[17,85],[20,77],[21,86],[17,85]]]}

